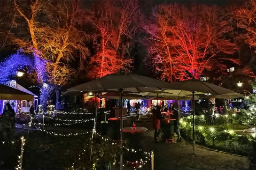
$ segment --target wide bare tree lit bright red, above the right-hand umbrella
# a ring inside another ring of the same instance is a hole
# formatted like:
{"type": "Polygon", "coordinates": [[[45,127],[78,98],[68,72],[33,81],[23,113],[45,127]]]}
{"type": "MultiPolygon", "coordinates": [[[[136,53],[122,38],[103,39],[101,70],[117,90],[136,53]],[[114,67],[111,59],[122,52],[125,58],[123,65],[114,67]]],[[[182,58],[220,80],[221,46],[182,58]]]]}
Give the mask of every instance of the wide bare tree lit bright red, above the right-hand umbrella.
{"type": "Polygon", "coordinates": [[[216,6],[163,4],[142,28],[150,35],[148,56],[155,72],[168,81],[199,79],[204,71],[225,70],[236,51],[225,11],[216,6]]]}

